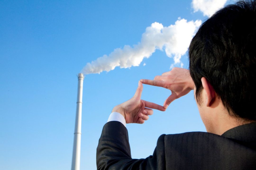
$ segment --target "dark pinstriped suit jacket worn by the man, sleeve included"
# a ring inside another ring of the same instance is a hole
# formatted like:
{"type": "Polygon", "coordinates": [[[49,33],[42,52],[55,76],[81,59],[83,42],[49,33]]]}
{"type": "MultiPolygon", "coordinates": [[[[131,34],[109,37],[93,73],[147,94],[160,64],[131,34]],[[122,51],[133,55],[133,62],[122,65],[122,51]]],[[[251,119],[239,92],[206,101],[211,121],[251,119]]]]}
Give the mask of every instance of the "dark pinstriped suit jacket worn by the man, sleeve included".
{"type": "Polygon", "coordinates": [[[99,139],[97,169],[256,169],[256,123],[237,126],[221,136],[207,132],[161,135],[153,155],[132,159],[126,127],[111,121],[99,139]]]}

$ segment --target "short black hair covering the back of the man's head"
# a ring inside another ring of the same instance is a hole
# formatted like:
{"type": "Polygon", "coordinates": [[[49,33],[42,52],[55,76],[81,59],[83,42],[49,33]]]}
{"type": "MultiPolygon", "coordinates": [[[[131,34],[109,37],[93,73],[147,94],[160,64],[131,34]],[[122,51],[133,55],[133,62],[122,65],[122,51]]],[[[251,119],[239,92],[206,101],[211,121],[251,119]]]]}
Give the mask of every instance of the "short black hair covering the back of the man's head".
{"type": "Polygon", "coordinates": [[[228,5],[205,21],[189,60],[199,106],[206,82],[230,115],[256,120],[256,0],[228,5]]]}

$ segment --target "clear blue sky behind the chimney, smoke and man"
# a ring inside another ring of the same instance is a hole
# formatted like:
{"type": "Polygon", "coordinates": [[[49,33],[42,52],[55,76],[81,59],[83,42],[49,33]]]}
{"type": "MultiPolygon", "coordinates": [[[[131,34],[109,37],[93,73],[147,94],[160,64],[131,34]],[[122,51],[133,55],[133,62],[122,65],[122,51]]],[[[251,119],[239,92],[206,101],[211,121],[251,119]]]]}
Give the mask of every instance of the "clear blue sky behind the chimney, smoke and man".
{"type": "MultiPolygon", "coordinates": [[[[178,17],[207,19],[193,12],[191,0],[0,1],[0,169],[70,169],[76,75],[115,48],[140,42],[152,23],[167,27],[178,17]]],[[[187,53],[181,62],[188,68],[187,53]]],[[[81,169],[96,169],[98,139],[112,108],[133,96],[138,80],[153,79],[173,63],[156,50],[138,67],[86,75],[81,169]]],[[[142,99],[162,105],[169,95],[144,85],[142,99]]],[[[193,91],[127,129],[133,158],[151,155],[161,134],[205,132],[193,91]]]]}

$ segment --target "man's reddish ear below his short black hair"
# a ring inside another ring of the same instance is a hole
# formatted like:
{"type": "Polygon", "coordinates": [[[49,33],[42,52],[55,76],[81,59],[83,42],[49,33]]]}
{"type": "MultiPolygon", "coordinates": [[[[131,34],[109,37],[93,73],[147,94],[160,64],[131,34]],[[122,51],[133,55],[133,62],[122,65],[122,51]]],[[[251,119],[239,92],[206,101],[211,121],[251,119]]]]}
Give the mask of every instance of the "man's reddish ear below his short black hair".
{"type": "Polygon", "coordinates": [[[211,106],[212,102],[214,102],[215,100],[215,97],[216,97],[215,90],[205,77],[201,78],[201,82],[202,82],[203,88],[205,89],[205,95],[206,95],[205,104],[207,107],[209,107],[211,106]]]}

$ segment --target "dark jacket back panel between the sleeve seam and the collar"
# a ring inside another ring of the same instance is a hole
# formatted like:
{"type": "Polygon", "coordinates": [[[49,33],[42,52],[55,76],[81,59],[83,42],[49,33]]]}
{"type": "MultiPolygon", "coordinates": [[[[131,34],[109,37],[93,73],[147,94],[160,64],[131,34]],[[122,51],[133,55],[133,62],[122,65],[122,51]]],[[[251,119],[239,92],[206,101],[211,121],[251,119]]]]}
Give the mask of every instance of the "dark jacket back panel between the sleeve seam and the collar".
{"type": "Polygon", "coordinates": [[[164,136],[166,167],[170,169],[255,168],[256,152],[238,141],[207,132],[164,136]],[[247,165],[247,166],[244,166],[247,165]]]}

